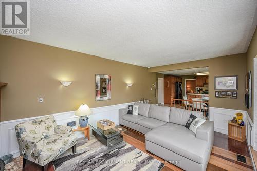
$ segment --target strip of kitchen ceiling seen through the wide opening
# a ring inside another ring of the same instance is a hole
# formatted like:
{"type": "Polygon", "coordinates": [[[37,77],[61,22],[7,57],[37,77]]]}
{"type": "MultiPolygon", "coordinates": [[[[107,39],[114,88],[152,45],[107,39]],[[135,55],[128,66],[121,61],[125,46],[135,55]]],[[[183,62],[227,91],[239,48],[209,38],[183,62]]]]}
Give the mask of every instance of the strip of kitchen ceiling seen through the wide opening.
{"type": "Polygon", "coordinates": [[[208,72],[208,71],[209,71],[209,67],[201,67],[201,68],[180,69],[180,70],[174,70],[174,71],[164,71],[159,73],[182,76],[182,75],[194,75],[195,73],[208,72]]]}

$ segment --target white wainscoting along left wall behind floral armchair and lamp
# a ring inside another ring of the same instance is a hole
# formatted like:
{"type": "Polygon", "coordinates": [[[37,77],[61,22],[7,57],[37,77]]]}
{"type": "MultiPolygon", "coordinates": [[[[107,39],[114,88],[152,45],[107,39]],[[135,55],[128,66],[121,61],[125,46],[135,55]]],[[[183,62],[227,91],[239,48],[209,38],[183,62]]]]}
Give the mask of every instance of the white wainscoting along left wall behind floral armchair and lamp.
{"type": "MultiPolygon", "coordinates": [[[[96,121],[99,121],[101,119],[109,119],[114,121],[118,125],[119,109],[125,108],[128,105],[133,105],[133,104],[134,102],[91,108],[91,110],[93,111],[93,114],[88,116],[89,117],[88,123],[95,126],[96,121]]],[[[75,111],[68,111],[63,113],[55,113],[52,115],[56,119],[56,122],[58,125],[66,125],[67,122],[75,120],[76,126],[74,128],[76,128],[78,127],[78,124],[79,124],[78,122],[79,117],[75,116],[74,114],[75,114],[75,111]]],[[[42,117],[42,116],[39,116],[39,117],[42,117]]],[[[0,156],[6,155],[6,154],[13,154],[14,157],[20,156],[14,126],[21,122],[29,121],[39,117],[23,118],[23,119],[0,122],[0,137],[1,137],[0,138],[0,149],[1,149],[0,156]]],[[[77,134],[78,137],[84,136],[84,134],[79,131],[75,132],[75,134],[77,134]]]]}

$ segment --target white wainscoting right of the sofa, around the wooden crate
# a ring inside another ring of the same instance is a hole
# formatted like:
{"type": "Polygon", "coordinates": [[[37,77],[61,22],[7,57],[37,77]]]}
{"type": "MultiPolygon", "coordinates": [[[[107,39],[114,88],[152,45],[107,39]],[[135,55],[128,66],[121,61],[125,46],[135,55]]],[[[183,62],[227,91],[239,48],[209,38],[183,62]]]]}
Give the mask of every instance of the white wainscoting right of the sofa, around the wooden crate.
{"type": "Polygon", "coordinates": [[[246,111],[209,107],[209,120],[214,121],[214,131],[228,134],[228,121],[230,121],[235,116],[235,113],[238,112],[243,113],[244,115],[243,120],[246,125],[247,143],[253,146],[253,122],[246,111]]]}

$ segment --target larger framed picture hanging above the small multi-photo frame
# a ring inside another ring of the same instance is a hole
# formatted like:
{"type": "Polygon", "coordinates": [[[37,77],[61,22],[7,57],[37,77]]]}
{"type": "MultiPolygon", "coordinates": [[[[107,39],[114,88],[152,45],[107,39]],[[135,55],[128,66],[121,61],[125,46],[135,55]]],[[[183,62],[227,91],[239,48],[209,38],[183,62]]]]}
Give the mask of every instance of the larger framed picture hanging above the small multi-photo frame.
{"type": "Polygon", "coordinates": [[[214,77],[215,90],[237,90],[238,76],[214,77]]]}

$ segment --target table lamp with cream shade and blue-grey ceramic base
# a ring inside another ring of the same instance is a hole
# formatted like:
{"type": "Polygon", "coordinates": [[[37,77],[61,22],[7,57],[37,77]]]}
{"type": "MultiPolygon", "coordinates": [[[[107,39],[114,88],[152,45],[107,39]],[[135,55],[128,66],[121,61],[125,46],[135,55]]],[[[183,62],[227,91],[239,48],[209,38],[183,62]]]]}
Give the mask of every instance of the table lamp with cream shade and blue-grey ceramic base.
{"type": "Polygon", "coordinates": [[[79,109],[75,112],[75,115],[80,116],[79,123],[80,127],[84,128],[88,123],[88,116],[92,113],[91,109],[86,105],[80,105],[79,109]]]}

